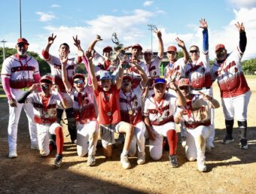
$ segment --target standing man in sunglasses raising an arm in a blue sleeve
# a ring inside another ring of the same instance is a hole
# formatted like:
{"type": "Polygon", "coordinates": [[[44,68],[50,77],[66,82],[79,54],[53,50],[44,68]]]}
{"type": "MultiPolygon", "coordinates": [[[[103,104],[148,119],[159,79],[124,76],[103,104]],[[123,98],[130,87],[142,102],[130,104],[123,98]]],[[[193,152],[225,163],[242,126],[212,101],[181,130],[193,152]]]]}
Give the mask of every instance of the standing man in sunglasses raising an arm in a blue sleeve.
{"type": "MultiPolygon", "coordinates": [[[[190,84],[193,88],[192,92],[198,93],[207,92],[209,95],[212,94],[212,79],[210,74],[210,63],[209,63],[209,36],[208,36],[208,24],[205,19],[200,20],[200,28],[203,29],[203,52],[200,55],[199,47],[192,45],[190,47],[190,61],[187,62],[184,68],[185,77],[190,80],[190,84]]],[[[215,127],[214,127],[214,109],[211,114],[212,121],[212,132],[209,136],[208,144],[213,148],[215,138],[215,127]]]]}

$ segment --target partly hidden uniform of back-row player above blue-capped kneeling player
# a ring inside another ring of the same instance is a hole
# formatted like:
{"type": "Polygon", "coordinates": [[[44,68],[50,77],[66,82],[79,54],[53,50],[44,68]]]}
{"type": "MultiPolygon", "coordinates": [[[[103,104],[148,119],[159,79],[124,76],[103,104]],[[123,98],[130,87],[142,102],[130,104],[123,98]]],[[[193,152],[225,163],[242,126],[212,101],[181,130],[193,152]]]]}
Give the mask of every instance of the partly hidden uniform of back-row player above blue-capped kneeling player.
{"type": "Polygon", "coordinates": [[[151,96],[154,94],[154,80],[160,77],[160,64],[162,62],[162,59],[157,56],[154,58],[153,61],[151,61],[151,64],[146,64],[148,66],[148,96],[151,96]]]}

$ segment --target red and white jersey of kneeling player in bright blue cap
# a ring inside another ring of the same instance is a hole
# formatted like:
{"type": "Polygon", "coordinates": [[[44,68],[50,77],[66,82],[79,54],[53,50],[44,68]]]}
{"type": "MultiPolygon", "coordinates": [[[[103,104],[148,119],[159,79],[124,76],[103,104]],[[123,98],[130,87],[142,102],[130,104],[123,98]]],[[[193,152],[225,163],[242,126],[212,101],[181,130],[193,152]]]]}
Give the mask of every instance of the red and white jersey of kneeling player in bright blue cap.
{"type": "Polygon", "coordinates": [[[162,126],[168,122],[174,122],[173,115],[176,110],[177,98],[174,95],[166,93],[161,102],[154,99],[154,95],[146,99],[143,114],[149,117],[153,126],[162,126]]]}

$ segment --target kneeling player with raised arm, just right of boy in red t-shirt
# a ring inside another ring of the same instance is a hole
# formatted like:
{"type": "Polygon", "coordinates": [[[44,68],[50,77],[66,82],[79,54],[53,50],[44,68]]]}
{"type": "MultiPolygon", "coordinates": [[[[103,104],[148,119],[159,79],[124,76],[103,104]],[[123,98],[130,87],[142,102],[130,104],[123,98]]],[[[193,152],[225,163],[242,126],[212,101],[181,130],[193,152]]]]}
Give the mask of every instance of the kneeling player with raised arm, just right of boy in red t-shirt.
{"type": "Polygon", "coordinates": [[[136,145],[138,145],[138,159],[137,163],[142,165],[145,163],[145,123],[142,119],[142,94],[143,89],[147,85],[148,76],[145,71],[138,64],[133,64],[138,68],[139,74],[142,76],[141,83],[132,88],[133,78],[130,74],[125,74],[123,76],[123,82],[120,90],[120,113],[121,120],[126,123],[133,124],[134,135],[133,140],[130,145],[129,156],[134,156],[136,154],[136,145]]]}

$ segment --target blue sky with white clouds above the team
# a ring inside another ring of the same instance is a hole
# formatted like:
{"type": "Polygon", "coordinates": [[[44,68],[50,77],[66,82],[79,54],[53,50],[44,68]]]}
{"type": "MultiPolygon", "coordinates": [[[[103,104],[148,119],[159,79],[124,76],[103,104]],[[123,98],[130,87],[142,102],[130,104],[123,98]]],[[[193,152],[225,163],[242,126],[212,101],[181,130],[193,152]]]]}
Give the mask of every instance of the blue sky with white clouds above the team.
{"type": "MultiPolygon", "coordinates": [[[[2,1],[0,13],[0,39],[8,41],[7,47],[14,47],[20,35],[18,0],[2,1]]],[[[21,0],[23,37],[30,43],[29,50],[41,53],[47,37],[57,35],[51,53],[57,54],[59,44],[71,46],[72,35],[78,35],[82,46],[87,48],[96,35],[102,42],[96,50],[102,50],[111,43],[111,34],[117,32],[125,45],[139,43],[151,48],[151,32],[147,24],[154,24],[163,32],[164,47],[176,45],[175,38],[184,40],[187,48],[192,44],[202,45],[199,20],[206,18],[209,24],[209,53],[214,59],[214,47],[226,44],[232,51],[239,41],[234,23],[244,22],[248,36],[248,47],[244,59],[256,57],[256,0],[215,0],[215,1],[171,1],[171,0],[130,0],[130,1],[57,1],[21,0]]],[[[157,50],[157,38],[153,38],[153,50],[157,50]]]]}

